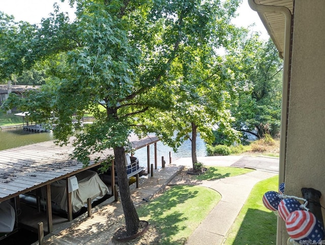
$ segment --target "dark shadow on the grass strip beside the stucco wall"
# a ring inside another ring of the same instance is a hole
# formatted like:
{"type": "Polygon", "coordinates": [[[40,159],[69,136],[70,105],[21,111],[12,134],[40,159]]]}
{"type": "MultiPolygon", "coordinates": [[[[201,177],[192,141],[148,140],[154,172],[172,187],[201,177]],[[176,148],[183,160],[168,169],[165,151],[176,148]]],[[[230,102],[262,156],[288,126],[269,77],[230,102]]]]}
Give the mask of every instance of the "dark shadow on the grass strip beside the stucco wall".
{"type": "Polygon", "coordinates": [[[277,217],[273,212],[249,208],[235,238],[225,244],[276,244],[277,217]]]}

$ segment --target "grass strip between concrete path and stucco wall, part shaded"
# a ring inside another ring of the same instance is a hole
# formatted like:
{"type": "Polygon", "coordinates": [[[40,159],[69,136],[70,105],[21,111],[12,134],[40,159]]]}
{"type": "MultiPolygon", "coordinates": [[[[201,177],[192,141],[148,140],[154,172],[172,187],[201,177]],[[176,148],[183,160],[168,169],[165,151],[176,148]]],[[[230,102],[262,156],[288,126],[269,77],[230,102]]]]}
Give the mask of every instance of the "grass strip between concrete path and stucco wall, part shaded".
{"type": "Polygon", "coordinates": [[[278,190],[278,176],[258,182],[229,231],[225,245],[276,244],[277,217],[262,202],[264,193],[278,190]]]}

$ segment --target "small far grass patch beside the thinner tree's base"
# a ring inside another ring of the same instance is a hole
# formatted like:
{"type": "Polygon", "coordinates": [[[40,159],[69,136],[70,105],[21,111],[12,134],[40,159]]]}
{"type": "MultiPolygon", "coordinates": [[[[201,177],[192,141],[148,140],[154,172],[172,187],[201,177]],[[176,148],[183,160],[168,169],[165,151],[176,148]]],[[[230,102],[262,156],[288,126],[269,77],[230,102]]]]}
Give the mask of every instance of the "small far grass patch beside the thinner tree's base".
{"type": "Polygon", "coordinates": [[[207,171],[204,174],[198,175],[199,180],[213,180],[225,177],[233,177],[240,174],[249,173],[254,171],[247,168],[234,168],[234,167],[206,167],[207,171]]]}

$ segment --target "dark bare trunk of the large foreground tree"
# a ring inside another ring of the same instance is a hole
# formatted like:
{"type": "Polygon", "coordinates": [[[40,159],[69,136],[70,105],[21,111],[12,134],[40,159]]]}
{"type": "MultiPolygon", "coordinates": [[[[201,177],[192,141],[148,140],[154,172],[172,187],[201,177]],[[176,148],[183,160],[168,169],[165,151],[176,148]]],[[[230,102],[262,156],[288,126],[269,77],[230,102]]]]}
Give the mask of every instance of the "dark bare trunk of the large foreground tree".
{"type": "Polygon", "coordinates": [[[131,192],[125,168],[125,151],[121,146],[114,147],[115,167],[118,178],[118,188],[124,212],[126,233],[131,236],[137,234],[139,229],[139,216],[131,199],[131,192]]]}

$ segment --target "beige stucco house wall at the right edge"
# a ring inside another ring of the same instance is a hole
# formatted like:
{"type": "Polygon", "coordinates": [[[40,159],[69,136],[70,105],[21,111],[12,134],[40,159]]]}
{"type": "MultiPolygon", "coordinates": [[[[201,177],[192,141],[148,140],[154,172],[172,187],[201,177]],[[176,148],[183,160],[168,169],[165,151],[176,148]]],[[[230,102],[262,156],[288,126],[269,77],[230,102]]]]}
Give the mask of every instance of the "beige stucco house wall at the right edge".
{"type": "MultiPolygon", "coordinates": [[[[290,80],[285,194],[322,193],[325,206],[325,1],[296,0],[290,80]]],[[[322,210],[323,217],[325,211],[322,210]]],[[[288,238],[285,227],[282,241],[288,238]]],[[[284,243],[285,242],[285,243],[284,243]]]]}

